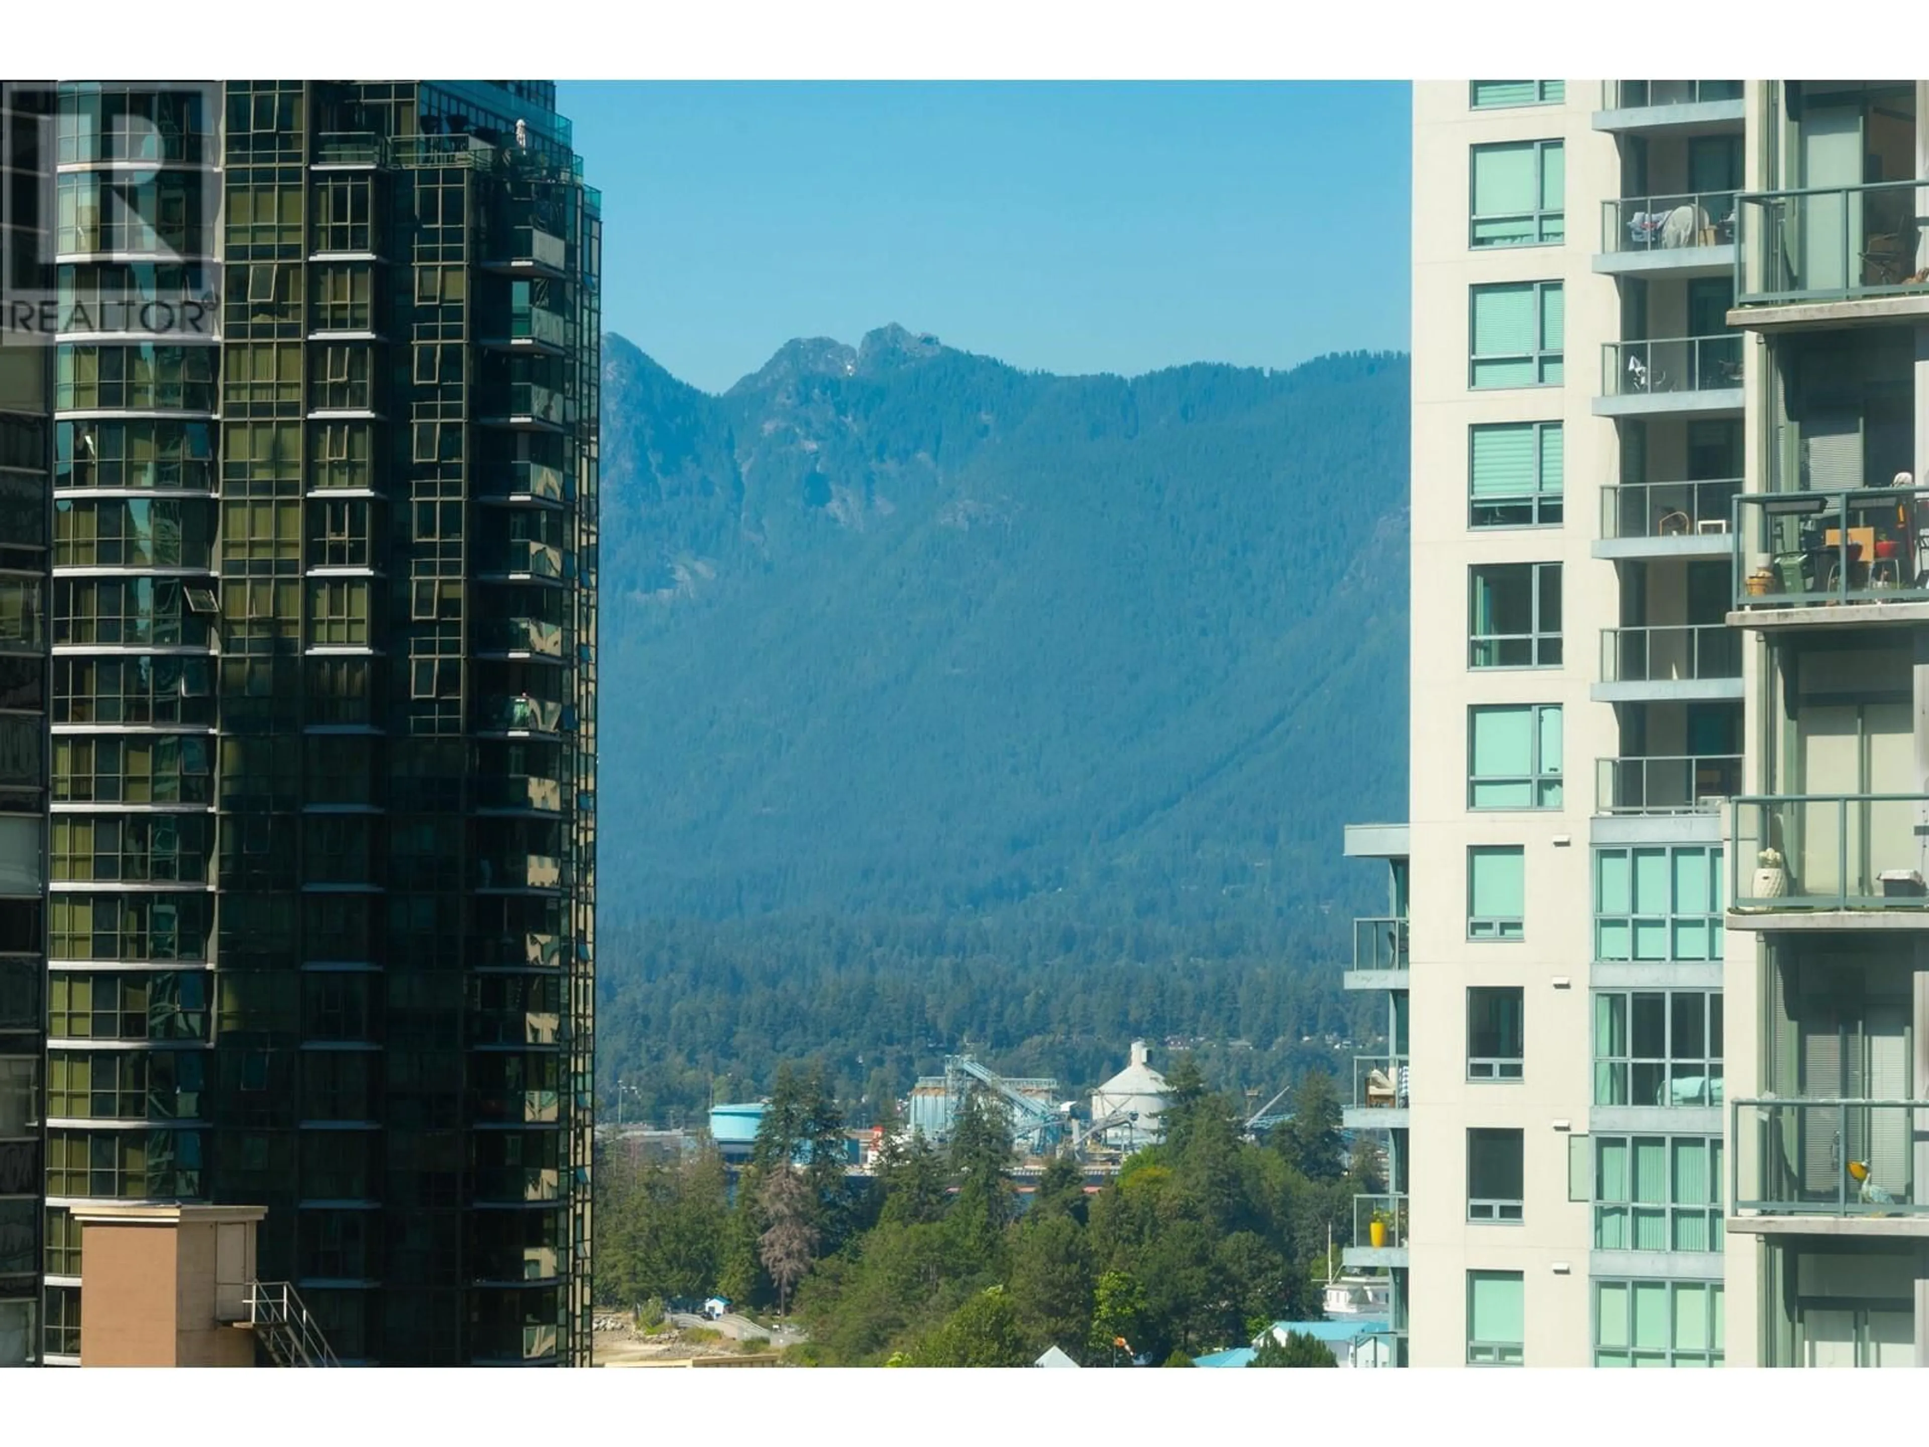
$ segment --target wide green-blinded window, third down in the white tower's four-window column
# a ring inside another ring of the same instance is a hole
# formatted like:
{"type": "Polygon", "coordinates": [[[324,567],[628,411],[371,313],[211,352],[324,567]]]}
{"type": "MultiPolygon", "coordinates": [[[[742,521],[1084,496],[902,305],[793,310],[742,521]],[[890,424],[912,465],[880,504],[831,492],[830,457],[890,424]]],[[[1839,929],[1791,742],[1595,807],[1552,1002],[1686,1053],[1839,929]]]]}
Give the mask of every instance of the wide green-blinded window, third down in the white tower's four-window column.
{"type": "Polygon", "coordinates": [[[1595,1136],[1593,1248],[1723,1248],[1721,1136],[1595,1136]]]}

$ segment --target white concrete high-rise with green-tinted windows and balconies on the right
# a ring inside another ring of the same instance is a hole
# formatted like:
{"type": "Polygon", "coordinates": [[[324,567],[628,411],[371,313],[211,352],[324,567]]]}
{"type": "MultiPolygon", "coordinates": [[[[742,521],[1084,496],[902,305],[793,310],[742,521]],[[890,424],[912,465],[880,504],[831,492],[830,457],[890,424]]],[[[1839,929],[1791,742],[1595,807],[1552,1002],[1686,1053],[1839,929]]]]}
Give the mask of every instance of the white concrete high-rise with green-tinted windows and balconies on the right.
{"type": "Polygon", "coordinates": [[[1414,1366],[1929,1362],[1923,176],[1921,81],[1414,87],[1414,1366]]]}

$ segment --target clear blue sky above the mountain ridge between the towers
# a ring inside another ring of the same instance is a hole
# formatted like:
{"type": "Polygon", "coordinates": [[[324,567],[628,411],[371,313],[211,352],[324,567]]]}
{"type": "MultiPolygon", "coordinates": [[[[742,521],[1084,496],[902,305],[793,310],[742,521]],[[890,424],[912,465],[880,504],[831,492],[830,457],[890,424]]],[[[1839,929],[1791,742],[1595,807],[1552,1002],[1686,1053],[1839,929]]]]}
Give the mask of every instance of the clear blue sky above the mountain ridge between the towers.
{"type": "Polygon", "coordinates": [[[561,85],[604,326],[710,392],[885,322],[1051,372],[1404,347],[1408,87],[561,85]]]}

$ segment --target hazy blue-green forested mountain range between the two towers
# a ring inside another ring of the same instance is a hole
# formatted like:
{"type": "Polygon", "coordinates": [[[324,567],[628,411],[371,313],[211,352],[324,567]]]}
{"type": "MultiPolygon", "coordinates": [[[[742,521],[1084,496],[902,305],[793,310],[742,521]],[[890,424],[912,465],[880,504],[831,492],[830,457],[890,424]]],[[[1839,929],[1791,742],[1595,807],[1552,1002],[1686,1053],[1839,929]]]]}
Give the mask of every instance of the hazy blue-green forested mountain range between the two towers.
{"type": "MultiPolygon", "coordinates": [[[[610,336],[602,405],[606,1080],[768,1055],[743,1011],[804,974],[936,992],[970,951],[920,942],[970,922],[999,1011],[1047,969],[1337,986],[1379,907],[1341,824],[1406,795],[1404,357],[1067,378],[893,326],[708,396],[610,336]],[[1092,953],[1115,926],[1138,945],[1092,953]],[[666,1061],[704,982],[710,1053],[666,1061]]],[[[1200,1032],[1304,1017],[1225,1009],[1200,1032]]]]}

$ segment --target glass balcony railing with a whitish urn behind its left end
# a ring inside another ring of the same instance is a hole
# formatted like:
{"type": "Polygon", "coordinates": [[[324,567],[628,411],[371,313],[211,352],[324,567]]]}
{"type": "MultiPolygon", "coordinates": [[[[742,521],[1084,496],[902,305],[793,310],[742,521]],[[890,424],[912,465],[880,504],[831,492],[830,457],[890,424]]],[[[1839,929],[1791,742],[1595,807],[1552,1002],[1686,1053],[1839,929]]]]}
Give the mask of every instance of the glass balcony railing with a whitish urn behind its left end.
{"type": "Polygon", "coordinates": [[[1752,795],[1734,801],[1736,909],[1929,909],[1929,797],[1752,795]]]}

